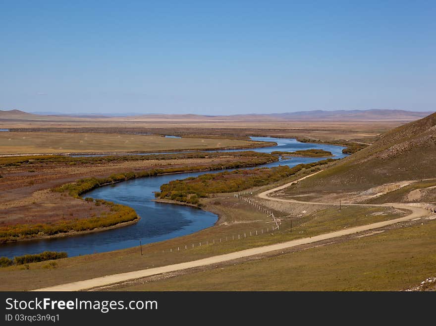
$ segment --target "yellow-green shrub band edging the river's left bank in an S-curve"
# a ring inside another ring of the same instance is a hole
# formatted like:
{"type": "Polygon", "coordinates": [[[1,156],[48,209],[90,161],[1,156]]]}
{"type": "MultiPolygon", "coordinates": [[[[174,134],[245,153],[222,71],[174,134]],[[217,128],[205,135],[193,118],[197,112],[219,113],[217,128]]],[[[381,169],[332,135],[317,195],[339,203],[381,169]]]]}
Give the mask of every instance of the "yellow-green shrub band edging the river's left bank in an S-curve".
{"type": "MultiPolygon", "coordinates": [[[[174,167],[174,168],[155,168],[145,171],[135,172],[122,172],[112,174],[106,178],[83,178],[73,183],[61,185],[52,189],[54,192],[68,193],[74,198],[80,198],[80,195],[95,189],[97,187],[113,184],[115,182],[157,176],[160,174],[181,173],[189,171],[213,171],[221,169],[230,169],[238,167],[256,166],[277,161],[278,158],[268,153],[258,153],[254,151],[241,151],[241,152],[194,152],[194,153],[177,153],[177,154],[151,154],[151,155],[123,155],[123,156],[99,156],[99,157],[69,157],[61,155],[43,155],[43,156],[19,156],[19,157],[3,157],[0,158],[0,165],[14,166],[21,164],[39,163],[55,163],[55,162],[69,162],[69,163],[97,163],[97,162],[113,162],[113,161],[136,161],[136,160],[167,160],[175,158],[210,158],[210,157],[232,156],[239,158],[240,161],[217,163],[212,165],[198,165],[190,167],[174,167]]],[[[93,198],[87,197],[84,200],[94,201],[93,198]]],[[[52,223],[39,223],[39,224],[17,224],[0,227],[0,243],[23,240],[28,238],[40,238],[45,236],[53,236],[56,234],[67,232],[80,232],[89,231],[96,228],[105,228],[114,226],[124,222],[135,222],[139,220],[134,209],[115,204],[113,202],[97,199],[96,205],[107,205],[110,210],[107,213],[102,213],[100,216],[92,216],[90,218],[74,219],[74,220],[60,220],[52,223]]]]}

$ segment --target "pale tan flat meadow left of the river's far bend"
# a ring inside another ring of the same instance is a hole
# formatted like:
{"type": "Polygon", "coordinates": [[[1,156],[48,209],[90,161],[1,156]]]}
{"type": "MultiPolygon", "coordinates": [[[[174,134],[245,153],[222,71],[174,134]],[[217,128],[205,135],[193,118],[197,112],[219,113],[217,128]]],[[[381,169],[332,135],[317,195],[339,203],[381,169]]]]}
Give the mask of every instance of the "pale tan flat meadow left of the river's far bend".
{"type": "Polygon", "coordinates": [[[0,154],[164,152],[254,148],[271,143],[239,139],[166,138],[162,135],[70,132],[2,132],[0,154]]]}

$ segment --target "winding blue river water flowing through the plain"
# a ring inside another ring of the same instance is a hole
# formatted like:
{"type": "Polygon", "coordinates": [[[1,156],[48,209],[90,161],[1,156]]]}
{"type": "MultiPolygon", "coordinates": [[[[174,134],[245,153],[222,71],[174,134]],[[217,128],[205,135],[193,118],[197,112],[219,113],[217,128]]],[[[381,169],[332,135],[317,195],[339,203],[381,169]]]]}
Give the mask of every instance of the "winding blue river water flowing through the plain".
{"type": "MultiPolygon", "coordinates": [[[[255,151],[263,153],[270,153],[274,150],[295,151],[300,149],[322,148],[332,152],[332,154],[335,155],[333,158],[346,156],[342,154],[344,147],[341,146],[301,143],[295,139],[288,138],[252,137],[252,139],[275,141],[277,143],[277,146],[254,149],[255,151]]],[[[292,167],[300,163],[311,163],[319,160],[320,158],[293,157],[263,166],[274,167],[278,165],[288,165],[292,167]]],[[[129,180],[97,188],[86,193],[85,196],[102,198],[130,206],[134,208],[141,217],[140,221],[130,226],[103,232],[57,239],[3,244],[0,246],[0,257],[6,256],[12,258],[25,254],[37,254],[46,250],[65,251],[68,253],[69,257],[73,257],[138,246],[140,239],[143,244],[163,241],[211,227],[216,223],[218,219],[217,215],[194,207],[155,202],[153,201],[155,198],[153,192],[159,191],[162,184],[168,183],[171,180],[218,172],[221,171],[170,174],[129,180]]]]}

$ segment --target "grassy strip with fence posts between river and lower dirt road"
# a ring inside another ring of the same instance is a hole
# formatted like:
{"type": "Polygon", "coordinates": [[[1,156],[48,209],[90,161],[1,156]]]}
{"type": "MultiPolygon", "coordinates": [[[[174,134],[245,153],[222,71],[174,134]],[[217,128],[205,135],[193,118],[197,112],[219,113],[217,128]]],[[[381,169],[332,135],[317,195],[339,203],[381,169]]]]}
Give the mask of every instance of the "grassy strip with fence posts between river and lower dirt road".
{"type": "MultiPolygon", "coordinates": [[[[290,219],[282,216],[280,230],[271,232],[273,225],[271,218],[234,197],[222,194],[209,198],[206,199],[205,206],[208,210],[220,214],[217,225],[184,237],[143,245],[143,256],[140,256],[139,248],[136,247],[57,260],[56,268],[49,271],[43,267],[44,263],[31,263],[29,269],[20,269],[18,266],[4,267],[0,269],[0,289],[35,289],[119,272],[191,261],[312,236],[343,226],[362,225],[398,217],[398,212],[390,208],[350,207],[349,211],[343,210],[343,213],[333,208],[327,214],[329,223],[326,220],[325,223],[319,224],[317,222],[319,216],[310,215],[301,221],[294,220],[291,232],[290,219]],[[255,236],[256,230],[258,230],[257,236],[255,236]],[[264,233],[261,233],[261,230],[264,233]],[[250,231],[253,236],[249,235],[250,231]],[[243,237],[244,233],[246,237],[243,237]],[[241,236],[240,240],[237,240],[238,234],[241,236]],[[231,240],[232,236],[235,240],[231,240]],[[199,246],[200,242],[201,246],[199,246]],[[195,245],[194,248],[192,244],[195,245]],[[185,245],[188,247],[187,250],[184,250],[185,245]],[[177,251],[177,248],[180,251],[177,251]]],[[[276,211],[275,214],[280,215],[280,212],[276,211]]]]}

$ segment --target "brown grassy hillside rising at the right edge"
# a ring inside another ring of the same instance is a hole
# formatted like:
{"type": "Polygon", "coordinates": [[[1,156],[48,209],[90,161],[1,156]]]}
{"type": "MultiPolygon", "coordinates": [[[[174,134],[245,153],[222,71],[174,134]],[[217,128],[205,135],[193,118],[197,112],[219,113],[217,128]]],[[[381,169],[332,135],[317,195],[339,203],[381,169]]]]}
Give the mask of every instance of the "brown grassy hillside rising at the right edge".
{"type": "Polygon", "coordinates": [[[436,113],[386,132],[372,145],[289,191],[364,190],[402,180],[434,178],[435,158],[436,113]]]}

